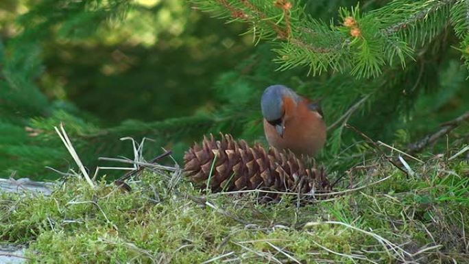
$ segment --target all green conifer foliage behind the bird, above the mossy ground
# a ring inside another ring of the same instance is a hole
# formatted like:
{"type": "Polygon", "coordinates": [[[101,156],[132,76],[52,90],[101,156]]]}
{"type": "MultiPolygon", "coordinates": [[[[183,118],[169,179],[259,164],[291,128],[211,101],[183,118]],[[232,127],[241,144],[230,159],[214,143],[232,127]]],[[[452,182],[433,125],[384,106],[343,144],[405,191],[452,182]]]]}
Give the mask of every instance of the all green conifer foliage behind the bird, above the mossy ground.
{"type": "MultiPolygon", "coordinates": [[[[57,176],[45,166],[74,167],[53,132],[60,121],[89,169],[98,156],[132,158],[123,136],[154,139],[145,147],[148,159],[166,147],[180,160],[208,132],[265,143],[258,100],[277,83],[321,99],[328,125],[363,99],[346,121],[399,147],[468,109],[460,60],[466,29],[453,8],[462,8],[461,1],[413,1],[402,10],[399,4],[409,1],[368,1],[359,9],[351,8],[357,1],[292,1],[293,36],[311,45],[348,36],[344,16],[361,23],[364,38],[344,40],[349,50],[332,57],[278,38],[271,22],[287,22],[274,2],[251,1],[265,19],[251,11],[232,23],[209,17],[233,19],[222,2],[236,1],[2,1],[1,176],[16,171],[39,179],[57,176]],[[403,22],[404,32],[374,41],[376,30],[403,22]],[[255,34],[240,35],[253,28],[255,34]]],[[[467,131],[466,125],[453,136],[467,142],[467,131]]],[[[350,157],[363,148],[350,145],[360,140],[339,122],[319,160],[330,170],[348,169],[359,162],[350,157]]]]}

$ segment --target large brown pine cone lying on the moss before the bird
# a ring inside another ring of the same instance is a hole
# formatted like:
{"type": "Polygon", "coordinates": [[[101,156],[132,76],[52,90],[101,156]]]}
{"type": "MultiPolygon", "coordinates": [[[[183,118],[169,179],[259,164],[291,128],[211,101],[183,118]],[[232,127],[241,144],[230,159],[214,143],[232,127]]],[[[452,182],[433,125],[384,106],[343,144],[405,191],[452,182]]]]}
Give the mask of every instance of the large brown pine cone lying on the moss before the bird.
{"type": "Polygon", "coordinates": [[[204,136],[202,146],[193,145],[184,154],[184,171],[203,188],[210,178],[212,191],[263,189],[315,193],[330,190],[324,170],[306,169],[292,152],[275,148],[266,152],[260,144],[249,147],[245,141],[234,141],[228,134],[221,134],[221,141],[215,141],[213,135],[210,139],[204,136]]]}

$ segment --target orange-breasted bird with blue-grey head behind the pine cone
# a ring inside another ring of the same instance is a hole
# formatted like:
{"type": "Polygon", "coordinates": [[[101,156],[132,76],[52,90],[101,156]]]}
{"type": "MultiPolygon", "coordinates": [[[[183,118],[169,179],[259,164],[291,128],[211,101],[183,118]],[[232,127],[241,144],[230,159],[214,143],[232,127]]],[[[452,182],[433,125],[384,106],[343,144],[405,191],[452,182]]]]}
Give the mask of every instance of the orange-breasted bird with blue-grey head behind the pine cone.
{"type": "Polygon", "coordinates": [[[315,156],[326,142],[326,123],[320,105],[287,86],[265,88],[261,97],[265,137],[276,149],[297,156],[315,156]]]}

